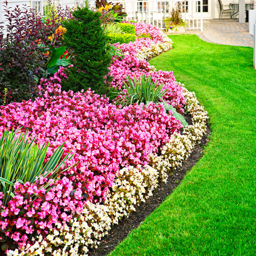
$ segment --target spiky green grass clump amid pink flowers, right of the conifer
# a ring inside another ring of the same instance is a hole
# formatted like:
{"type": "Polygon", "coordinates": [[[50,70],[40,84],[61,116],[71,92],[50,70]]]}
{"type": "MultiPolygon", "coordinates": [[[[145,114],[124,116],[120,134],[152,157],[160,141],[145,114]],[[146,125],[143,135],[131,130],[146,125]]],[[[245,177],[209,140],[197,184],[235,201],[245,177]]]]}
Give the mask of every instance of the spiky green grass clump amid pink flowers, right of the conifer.
{"type": "Polygon", "coordinates": [[[151,76],[145,78],[143,75],[141,78],[127,77],[127,81],[123,83],[123,88],[118,92],[118,99],[116,105],[127,106],[134,103],[145,105],[153,102],[157,103],[163,101],[163,96],[167,90],[163,90],[162,85],[158,85],[157,81],[153,81],[151,76]]]}

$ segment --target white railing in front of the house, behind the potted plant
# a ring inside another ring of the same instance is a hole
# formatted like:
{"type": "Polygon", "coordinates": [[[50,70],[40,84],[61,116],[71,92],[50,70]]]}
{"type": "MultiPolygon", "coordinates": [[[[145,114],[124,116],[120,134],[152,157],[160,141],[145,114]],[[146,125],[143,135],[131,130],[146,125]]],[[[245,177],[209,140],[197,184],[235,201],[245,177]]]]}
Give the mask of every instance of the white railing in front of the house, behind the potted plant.
{"type": "Polygon", "coordinates": [[[158,29],[164,29],[164,19],[178,6],[182,18],[188,25],[187,28],[203,31],[202,0],[114,0],[112,3],[123,5],[123,11],[127,13],[126,20],[152,24],[158,29]]]}

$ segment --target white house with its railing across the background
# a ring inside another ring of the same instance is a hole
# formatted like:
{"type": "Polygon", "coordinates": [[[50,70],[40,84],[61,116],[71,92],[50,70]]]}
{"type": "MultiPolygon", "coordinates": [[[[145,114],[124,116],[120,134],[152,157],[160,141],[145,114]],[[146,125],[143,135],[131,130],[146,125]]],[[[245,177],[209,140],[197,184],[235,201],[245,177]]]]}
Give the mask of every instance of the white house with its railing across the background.
{"type": "MultiPolygon", "coordinates": [[[[134,19],[140,22],[151,23],[154,26],[162,29],[164,27],[163,19],[169,16],[172,8],[179,5],[182,11],[182,16],[188,21],[189,29],[201,29],[202,19],[219,18],[220,13],[220,0],[109,0],[112,3],[123,4],[124,11],[127,12],[127,19],[134,19]]],[[[225,9],[229,6],[238,10],[239,0],[222,0],[225,9]]],[[[240,0],[241,1],[241,0],[240,0]]],[[[246,0],[246,8],[250,9],[250,1],[246,0]]],[[[5,11],[3,8],[4,0],[1,0],[0,6],[0,22],[6,22],[5,11]]],[[[47,0],[9,0],[9,7],[19,6],[32,6],[38,12],[42,13],[43,8],[46,5],[47,0]]],[[[60,4],[62,6],[81,6],[83,0],[53,0],[54,4],[60,4]]],[[[90,0],[90,5],[95,6],[95,0],[90,0]]],[[[238,15],[238,13],[237,13],[238,15]]],[[[224,13],[223,18],[229,18],[229,13],[224,13]]]]}

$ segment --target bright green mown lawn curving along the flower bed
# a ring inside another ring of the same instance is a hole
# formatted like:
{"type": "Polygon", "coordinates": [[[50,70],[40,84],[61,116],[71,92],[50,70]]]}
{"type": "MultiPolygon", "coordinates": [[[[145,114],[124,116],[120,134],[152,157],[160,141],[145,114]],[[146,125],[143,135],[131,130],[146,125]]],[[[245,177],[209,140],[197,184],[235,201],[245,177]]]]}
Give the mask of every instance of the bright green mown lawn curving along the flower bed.
{"type": "Polygon", "coordinates": [[[256,255],[253,49],[170,36],[151,60],[173,70],[209,113],[211,139],[181,184],[110,255],[256,255]]]}

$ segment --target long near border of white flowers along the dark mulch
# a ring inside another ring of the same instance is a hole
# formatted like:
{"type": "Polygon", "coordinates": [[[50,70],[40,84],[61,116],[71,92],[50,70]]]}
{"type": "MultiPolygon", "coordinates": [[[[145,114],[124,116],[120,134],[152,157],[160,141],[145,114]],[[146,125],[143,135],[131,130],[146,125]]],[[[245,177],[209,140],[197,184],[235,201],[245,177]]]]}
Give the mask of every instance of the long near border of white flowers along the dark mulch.
{"type": "MultiPolygon", "coordinates": [[[[183,86],[182,84],[180,84],[183,86]]],[[[82,214],[74,215],[69,225],[56,224],[46,238],[38,236],[34,245],[22,251],[9,251],[9,256],[27,255],[87,255],[88,249],[97,247],[111,225],[135,211],[135,206],[152,196],[160,182],[166,182],[168,173],[181,166],[206,131],[207,112],[199,105],[195,93],[184,88],[187,111],[193,124],[183,135],[175,133],[161,149],[161,155],[151,155],[151,166],[130,166],[120,170],[103,204],[87,202],[82,214]]]]}

